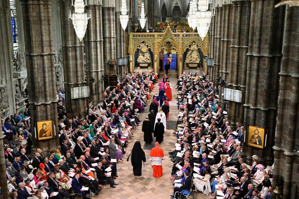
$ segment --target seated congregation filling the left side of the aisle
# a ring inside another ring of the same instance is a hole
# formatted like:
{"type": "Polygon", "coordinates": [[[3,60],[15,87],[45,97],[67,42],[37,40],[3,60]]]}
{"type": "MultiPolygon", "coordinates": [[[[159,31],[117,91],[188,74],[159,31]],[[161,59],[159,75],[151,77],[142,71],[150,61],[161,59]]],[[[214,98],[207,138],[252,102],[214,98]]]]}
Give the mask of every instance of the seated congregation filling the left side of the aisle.
{"type": "MultiPolygon", "coordinates": [[[[133,139],[139,114],[149,103],[157,74],[127,72],[114,89],[106,88],[104,100],[86,106],[86,117],[66,115],[64,90],[57,92],[59,147],[31,153],[30,109],[2,122],[5,135],[6,177],[11,198],[71,198],[98,195],[102,184],[115,188],[118,162],[133,139]],[[99,185],[100,184],[100,185],[99,185]]],[[[163,96],[161,96],[163,98],[163,96]]],[[[165,99],[164,99],[165,100],[165,99]]],[[[163,101],[164,101],[163,100],[163,101]]]]}

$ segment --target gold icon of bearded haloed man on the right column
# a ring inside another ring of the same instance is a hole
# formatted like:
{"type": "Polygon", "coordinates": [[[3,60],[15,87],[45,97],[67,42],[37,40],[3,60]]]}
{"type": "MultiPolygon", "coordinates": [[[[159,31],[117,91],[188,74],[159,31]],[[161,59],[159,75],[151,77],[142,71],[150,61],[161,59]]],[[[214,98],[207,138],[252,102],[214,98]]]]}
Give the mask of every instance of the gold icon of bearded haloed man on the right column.
{"type": "Polygon", "coordinates": [[[247,144],[249,146],[263,149],[264,142],[265,142],[265,128],[249,125],[247,144]]]}

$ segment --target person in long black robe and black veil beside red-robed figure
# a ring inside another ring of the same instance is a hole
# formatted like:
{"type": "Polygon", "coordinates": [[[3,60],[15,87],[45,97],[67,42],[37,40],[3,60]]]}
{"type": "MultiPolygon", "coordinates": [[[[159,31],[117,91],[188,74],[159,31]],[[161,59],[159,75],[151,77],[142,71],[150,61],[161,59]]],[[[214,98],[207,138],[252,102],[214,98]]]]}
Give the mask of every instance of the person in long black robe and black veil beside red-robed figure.
{"type": "MultiPolygon", "coordinates": [[[[135,142],[131,154],[131,164],[133,166],[133,173],[134,175],[141,176],[142,162],[146,162],[147,160],[145,158],[145,153],[142,150],[141,143],[139,141],[135,142]]],[[[127,161],[129,161],[129,157],[127,161]]]]}

